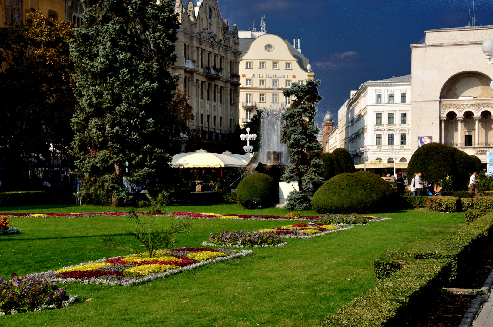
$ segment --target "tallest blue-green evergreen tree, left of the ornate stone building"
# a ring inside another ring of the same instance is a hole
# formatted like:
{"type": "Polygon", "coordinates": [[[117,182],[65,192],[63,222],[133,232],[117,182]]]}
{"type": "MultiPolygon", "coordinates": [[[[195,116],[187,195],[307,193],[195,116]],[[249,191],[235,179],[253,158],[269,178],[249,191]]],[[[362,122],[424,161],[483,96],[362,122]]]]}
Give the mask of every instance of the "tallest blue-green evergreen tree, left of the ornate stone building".
{"type": "Polygon", "coordinates": [[[85,0],[84,26],[70,43],[80,106],[72,120],[85,192],[128,198],[124,180],[159,177],[171,161],[169,103],[179,28],[171,0],[85,0]],[[90,3],[89,3],[90,2],[90,3]]]}

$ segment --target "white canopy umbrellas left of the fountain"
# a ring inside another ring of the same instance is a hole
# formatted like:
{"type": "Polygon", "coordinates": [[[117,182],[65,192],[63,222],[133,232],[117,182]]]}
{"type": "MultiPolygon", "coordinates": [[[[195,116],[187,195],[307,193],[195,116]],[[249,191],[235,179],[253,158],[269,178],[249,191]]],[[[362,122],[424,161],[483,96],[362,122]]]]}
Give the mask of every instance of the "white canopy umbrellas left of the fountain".
{"type": "Polygon", "coordinates": [[[173,168],[235,168],[245,167],[249,156],[234,155],[231,152],[212,153],[206,150],[179,153],[173,156],[173,168]]]}

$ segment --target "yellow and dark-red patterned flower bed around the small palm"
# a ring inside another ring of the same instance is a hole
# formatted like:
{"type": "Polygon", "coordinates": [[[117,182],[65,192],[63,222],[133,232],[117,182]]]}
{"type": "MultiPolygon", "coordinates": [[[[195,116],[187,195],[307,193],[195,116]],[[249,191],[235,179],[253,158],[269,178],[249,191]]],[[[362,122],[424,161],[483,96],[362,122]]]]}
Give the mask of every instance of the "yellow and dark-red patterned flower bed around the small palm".
{"type": "MultiPolygon", "coordinates": [[[[154,258],[149,258],[146,253],[115,257],[85,262],[41,274],[49,274],[51,281],[59,283],[133,286],[208,263],[229,260],[251,253],[252,251],[209,248],[170,249],[158,251],[154,258]]],[[[40,274],[31,276],[38,275],[40,274]]]]}

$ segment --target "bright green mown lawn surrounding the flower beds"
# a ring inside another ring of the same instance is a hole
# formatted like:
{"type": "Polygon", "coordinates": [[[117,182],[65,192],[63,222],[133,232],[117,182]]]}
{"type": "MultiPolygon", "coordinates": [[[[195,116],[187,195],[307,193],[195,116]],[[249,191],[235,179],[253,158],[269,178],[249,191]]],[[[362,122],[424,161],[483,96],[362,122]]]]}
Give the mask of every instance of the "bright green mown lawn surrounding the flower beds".
{"type": "MultiPolygon", "coordinates": [[[[99,207],[104,210],[86,208],[82,212],[109,211],[108,207],[99,207]]],[[[230,205],[176,208],[176,211],[243,213],[242,209],[230,205]]],[[[2,209],[14,211],[13,208],[2,209]]],[[[77,212],[73,207],[64,206],[23,209],[77,212]]],[[[280,210],[261,211],[262,214],[285,213],[280,210]]],[[[253,255],[243,259],[211,264],[137,287],[69,284],[68,293],[79,297],[76,304],[52,311],[3,316],[0,325],[318,326],[327,314],[336,312],[375,284],[372,262],[384,251],[425,249],[464,223],[463,214],[440,214],[423,209],[383,216],[392,220],[312,239],[288,239],[288,245],[283,247],[255,248],[253,255]],[[94,300],[86,302],[89,298],[94,300]]],[[[164,217],[162,222],[172,219],[164,217]]],[[[102,249],[99,238],[120,235],[132,226],[123,217],[12,217],[11,222],[20,227],[22,233],[0,239],[3,245],[0,275],[4,277],[12,272],[39,272],[115,256],[117,253],[102,249]]],[[[252,220],[194,222],[194,234],[183,235],[180,246],[200,246],[210,232],[223,228],[257,230],[283,224],[252,220]]]]}

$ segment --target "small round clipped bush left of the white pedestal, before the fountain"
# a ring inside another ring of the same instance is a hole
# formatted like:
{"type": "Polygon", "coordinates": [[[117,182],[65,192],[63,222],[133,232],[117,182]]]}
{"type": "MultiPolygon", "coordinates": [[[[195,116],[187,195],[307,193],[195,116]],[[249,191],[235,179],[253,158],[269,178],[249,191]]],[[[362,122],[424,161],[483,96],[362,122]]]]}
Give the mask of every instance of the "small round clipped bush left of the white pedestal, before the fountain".
{"type": "Polygon", "coordinates": [[[268,207],[274,204],[276,198],[276,183],[274,178],[269,175],[256,173],[246,176],[236,191],[238,203],[245,204],[250,197],[257,197],[262,200],[263,206],[268,207]]]}

